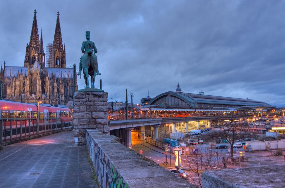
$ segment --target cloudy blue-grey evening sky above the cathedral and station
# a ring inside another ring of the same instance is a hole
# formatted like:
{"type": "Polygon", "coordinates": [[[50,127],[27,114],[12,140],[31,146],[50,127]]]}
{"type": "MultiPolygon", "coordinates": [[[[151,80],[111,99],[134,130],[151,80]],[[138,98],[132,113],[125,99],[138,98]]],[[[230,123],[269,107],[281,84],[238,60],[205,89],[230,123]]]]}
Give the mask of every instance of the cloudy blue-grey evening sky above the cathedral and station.
{"type": "Polygon", "coordinates": [[[285,1],[0,1],[0,61],[7,66],[24,66],[34,9],[45,52],[59,11],[68,67],[78,70],[91,32],[96,81],[109,101],[125,101],[127,88],[139,103],[148,89],[152,98],[175,91],[179,78],[182,92],[285,106],[285,1]]]}

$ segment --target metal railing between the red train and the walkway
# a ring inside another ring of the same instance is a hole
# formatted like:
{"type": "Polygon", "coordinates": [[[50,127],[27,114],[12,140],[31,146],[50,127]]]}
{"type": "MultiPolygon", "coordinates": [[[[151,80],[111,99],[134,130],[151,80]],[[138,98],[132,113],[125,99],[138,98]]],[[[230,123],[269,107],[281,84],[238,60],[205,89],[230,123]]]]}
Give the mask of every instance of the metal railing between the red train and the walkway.
{"type": "Polygon", "coordinates": [[[72,128],[70,118],[0,118],[0,145],[25,137],[72,128]]]}

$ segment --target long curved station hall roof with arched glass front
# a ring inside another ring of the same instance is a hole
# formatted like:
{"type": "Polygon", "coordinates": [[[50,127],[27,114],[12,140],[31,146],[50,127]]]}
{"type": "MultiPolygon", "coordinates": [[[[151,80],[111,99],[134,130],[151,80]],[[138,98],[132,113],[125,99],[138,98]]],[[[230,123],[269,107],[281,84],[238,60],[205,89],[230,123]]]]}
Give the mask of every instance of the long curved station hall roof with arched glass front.
{"type": "Polygon", "coordinates": [[[166,109],[212,109],[212,110],[265,110],[274,108],[262,101],[204,94],[165,92],[154,97],[149,103],[151,108],[166,109]]]}

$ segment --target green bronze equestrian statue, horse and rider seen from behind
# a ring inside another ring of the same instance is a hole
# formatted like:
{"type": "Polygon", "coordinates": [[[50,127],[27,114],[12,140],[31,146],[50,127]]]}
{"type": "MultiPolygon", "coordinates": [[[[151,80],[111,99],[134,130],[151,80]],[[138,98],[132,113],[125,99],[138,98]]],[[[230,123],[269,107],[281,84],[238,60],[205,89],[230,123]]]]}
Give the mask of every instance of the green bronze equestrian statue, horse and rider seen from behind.
{"type": "Polygon", "coordinates": [[[81,47],[83,56],[80,58],[77,75],[81,75],[81,70],[83,69],[85,88],[89,88],[88,75],[91,77],[91,88],[94,88],[95,76],[101,74],[98,70],[97,56],[95,55],[95,53],[97,53],[97,48],[95,44],[90,41],[90,31],[86,31],[85,36],[86,41],[83,41],[81,47]]]}

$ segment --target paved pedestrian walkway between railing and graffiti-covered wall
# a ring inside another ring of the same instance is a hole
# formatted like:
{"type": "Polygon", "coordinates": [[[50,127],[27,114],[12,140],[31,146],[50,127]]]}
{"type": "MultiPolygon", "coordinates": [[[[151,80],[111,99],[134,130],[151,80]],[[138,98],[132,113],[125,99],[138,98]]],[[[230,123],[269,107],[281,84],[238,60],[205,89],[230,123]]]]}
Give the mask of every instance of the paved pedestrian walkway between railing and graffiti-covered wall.
{"type": "Polygon", "coordinates": [[[73,131],[63,131],[4,146],[0,187],[98,187],[86,147],[73,140],[73,131]]]}

